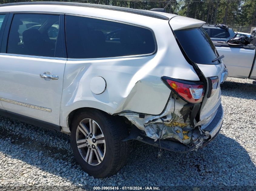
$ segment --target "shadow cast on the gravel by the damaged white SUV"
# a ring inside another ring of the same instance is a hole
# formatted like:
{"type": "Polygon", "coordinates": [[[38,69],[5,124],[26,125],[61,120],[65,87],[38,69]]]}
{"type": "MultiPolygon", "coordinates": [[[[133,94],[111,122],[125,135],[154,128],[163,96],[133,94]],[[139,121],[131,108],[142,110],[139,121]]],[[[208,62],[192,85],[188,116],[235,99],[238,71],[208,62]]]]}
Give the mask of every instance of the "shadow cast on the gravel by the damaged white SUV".
{"type": "MultiPolygon", "coordinates": [[[[38,129],[39,127],[28,128],[38,129]]],[[[161,158],[157,158],[158,148],[136,141],[128,163],[119,173],[108,178],[97,179],[86,174],[76,164],[70,150],[58,149],[47,143],[42,144],[29,137],[25,138],[26,144],[22,144],[25,141],[24,138],[4,131],[2,127],[0,130],[1,142],[10,140],[8,149],[6,146],[0,146],[2,154],[21,160],[44,172],[60,176],[63,181],[69,179],[72,185],[80,183],[83,186],[226,186],[255,185],[256,182],[255,174],[251,173],[256,172],[256,167],[248,152],[234,139],[223,134],[219,134],[204,149],[189,153],[164,150],[161,158]],[[15,139],[12,140],[14,137],[15,139]],[[33,154],[27,151],[22,153],[23,149],[28,149],[33,154]],[[65,157],[63,157],[64,153],[65,157]],[[80,178],[86,180],[86,183],[81,182],[80,178]]],[[[37,136],[41,136],[40,129],[36,133],[37,136]]],[[[58,132],[51,132],[51,135],[63,138],[65,142],[67,140],[67,135],[58,132]]]]}

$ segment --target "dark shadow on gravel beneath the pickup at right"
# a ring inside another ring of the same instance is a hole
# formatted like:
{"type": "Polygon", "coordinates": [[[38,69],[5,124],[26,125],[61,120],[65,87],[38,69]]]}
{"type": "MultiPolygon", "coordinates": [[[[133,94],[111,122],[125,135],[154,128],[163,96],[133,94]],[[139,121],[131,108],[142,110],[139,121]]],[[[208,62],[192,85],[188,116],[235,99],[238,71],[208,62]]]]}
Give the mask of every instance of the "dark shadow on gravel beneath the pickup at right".
{"type": "Polygon", "coordinates": [[[221,84],[221,95],[256,100],[256,84],[225,81],[221,84]]]}

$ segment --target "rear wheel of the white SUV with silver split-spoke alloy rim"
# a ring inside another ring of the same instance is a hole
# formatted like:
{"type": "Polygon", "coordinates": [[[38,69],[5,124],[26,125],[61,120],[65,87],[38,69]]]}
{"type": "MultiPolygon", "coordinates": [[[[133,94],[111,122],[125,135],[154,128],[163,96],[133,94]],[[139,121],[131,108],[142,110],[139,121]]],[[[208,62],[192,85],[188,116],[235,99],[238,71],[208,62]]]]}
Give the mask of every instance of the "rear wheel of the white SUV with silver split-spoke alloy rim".
{"type": "Polygon", "coordinates": [[[118,172],[126,163],[130,143],[122,140],[128,129],[120,116],[99,110],[75,114],[70,142],[78,164],[89,175],[104,178],[118,172]]]}

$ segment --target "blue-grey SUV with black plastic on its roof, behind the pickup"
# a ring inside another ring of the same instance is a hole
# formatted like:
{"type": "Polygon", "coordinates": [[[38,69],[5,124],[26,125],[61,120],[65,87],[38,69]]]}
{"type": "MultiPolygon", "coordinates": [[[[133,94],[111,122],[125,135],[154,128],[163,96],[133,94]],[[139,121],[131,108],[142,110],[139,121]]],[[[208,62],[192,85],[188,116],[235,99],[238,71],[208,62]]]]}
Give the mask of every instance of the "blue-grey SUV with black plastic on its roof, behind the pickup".
{"type": "Polygon", "coordinates": [[[226,28],[226,26],[220,27],[219,25],[203,25],[203,28],[208,33],[211,40],[227,41],[235,35],[233,29],[228,27],[226,28]]]}

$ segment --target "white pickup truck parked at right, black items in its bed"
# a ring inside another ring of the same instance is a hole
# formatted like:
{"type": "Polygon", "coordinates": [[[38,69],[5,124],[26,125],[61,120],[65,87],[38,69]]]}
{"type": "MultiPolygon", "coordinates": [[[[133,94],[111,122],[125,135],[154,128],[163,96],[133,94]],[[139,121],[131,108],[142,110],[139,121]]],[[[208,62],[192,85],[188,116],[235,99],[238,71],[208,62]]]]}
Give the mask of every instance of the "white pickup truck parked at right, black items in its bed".
{"type": "Polygon", "coordinates": [[[256,80],[256,28],[251,33],[248,45],[230,45],[213,40],[219,55],[224,55],[223,63],[228,69],[228,76],[256,80]]]}

